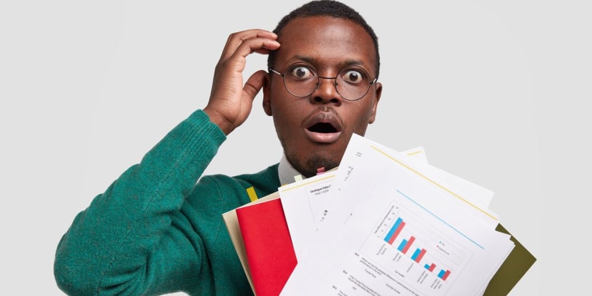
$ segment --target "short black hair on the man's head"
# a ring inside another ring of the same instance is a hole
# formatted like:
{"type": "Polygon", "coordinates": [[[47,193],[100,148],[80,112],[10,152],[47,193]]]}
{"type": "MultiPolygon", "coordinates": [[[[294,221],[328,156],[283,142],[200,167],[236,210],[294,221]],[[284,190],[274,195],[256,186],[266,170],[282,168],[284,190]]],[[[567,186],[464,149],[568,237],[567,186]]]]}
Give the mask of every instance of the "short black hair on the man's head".
{"type": "MultiPolygon", "coordinates": [[[[372,41],[374,42],[374,51],[376,54],[376,77],[378,78],[378,73],[380,72],[380,55],[378,54],[378,37],[374,33],[374,30],[366,23],[364,18],[355,11],[353,8],[345,5],[339,1],[334,0],[318,0],[318,1],[311,1],[307,4],[302,5],[294,10],[292,10],[288,15],[282,18],[281,21],[278,22],[278,25],[275,27],[274,33],[278,36],[281,35],[282,30],[284,27],[295,18],[299,17],[315,17],[315,16],[327,16],[327,17],[334,17],[334,18],[345,18],[346,20],[350,20],[355,22],[356,24],[361,25],[364,30],[370,35],[372,41]]],[[[274,68],[275,58],[277,52],[274,50],[269,53],[267,57],[267,67],[268,69],[274,68]]]]}

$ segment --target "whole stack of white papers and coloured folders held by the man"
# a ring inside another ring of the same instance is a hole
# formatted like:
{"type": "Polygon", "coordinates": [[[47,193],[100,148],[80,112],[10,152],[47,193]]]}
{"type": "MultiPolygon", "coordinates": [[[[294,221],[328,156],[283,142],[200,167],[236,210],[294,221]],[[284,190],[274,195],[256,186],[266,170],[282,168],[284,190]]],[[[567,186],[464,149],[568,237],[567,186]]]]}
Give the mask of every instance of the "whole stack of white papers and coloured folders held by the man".
{"type": "Polygon", "coordinates": [[[492,198],[354,134],[338,169],[223,217],[257,296],[507,295],[536,259],[492,198]]]}

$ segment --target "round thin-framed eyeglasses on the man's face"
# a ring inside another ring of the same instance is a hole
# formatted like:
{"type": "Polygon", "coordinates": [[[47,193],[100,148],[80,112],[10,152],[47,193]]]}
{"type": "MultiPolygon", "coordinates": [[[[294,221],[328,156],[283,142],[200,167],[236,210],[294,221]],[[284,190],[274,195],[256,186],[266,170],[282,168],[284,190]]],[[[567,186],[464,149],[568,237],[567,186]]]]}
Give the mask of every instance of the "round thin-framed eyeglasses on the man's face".
{"type": "Polygon", "coordinates": [[[320,79],[335,79],[334,85],[343,99],[357,101],[368,94],[370,85],[378,78],[370,80],[368,72],[359,66],[346,66],[335,77],[319,76],[313,65],[304,62],[294,63],[288,66],[284,74],[269,68],[269,72],[284,78],[284,86],[290,94],[298,98],[304,98],[317,91],[320,79]]]}

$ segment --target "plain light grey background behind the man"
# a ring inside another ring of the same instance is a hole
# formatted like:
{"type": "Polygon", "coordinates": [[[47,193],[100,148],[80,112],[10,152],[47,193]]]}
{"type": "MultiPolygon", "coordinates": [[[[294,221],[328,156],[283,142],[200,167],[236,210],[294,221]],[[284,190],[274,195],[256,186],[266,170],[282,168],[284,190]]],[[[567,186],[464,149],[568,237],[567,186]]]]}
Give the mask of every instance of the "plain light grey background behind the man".
{"type": "MultiPolygon", "coordinates": [[[[501,223],[538,258],[511,295],[587,289],[590,5],[345,2],[379,37],[384,91],[366,137],[423,146],[432,165],[496,192],[501,223]]],[[[230,33],[272,30],[303,3],[2,1],[0,294],[62,295],[53,256],[76,213],[205,107],[230,33]]],[[[265,67],[253,55],[245,76],[265,67]]],[[[279,161],[255,101],[206,173],[279,161]]]]}

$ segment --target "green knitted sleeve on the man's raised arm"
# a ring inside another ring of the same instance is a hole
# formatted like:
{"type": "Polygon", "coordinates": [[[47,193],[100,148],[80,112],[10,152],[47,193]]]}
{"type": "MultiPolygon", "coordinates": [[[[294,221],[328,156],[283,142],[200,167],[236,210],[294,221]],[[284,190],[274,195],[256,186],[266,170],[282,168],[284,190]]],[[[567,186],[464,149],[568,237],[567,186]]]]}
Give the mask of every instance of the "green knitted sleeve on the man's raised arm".
{"type": "Polygon", "coordinates": [[[225,139],[207,114],[195,111],[95,197],[57,246],[60,289],[70,295],[188,289],[202,254],[179,210],[225,139]]]}

